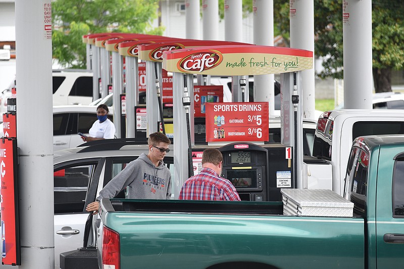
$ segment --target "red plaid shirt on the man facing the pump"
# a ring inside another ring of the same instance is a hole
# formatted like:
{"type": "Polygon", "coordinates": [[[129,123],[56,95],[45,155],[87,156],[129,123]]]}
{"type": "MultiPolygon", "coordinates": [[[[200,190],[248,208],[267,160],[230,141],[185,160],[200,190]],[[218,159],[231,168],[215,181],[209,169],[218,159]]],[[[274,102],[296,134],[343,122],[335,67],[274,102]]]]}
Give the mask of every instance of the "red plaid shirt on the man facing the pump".
{"type": "Polygon", "coordinates": [[[204,168],[182,185],[180,200],[240,201],[233,184],[213,169],[204,168]]]}

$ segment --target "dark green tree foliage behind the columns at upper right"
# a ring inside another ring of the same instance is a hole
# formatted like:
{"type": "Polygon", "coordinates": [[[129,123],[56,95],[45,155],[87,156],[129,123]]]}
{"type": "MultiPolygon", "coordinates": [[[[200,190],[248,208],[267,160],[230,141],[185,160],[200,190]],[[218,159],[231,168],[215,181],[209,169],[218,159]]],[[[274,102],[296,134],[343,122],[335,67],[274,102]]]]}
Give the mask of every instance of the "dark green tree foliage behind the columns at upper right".
{"type": "MultiPolygon", "coordinates": [[[[372,1],[373,79],[376,92],[391,91],[391,70],[404,68],[404,2],[372,1]]],[[[289,1],[274,1],[274,24],[289,39],[289,1]]],[[[314,0],[315,55],[321,78],[343,78],[342,0],[314,0]]]]}

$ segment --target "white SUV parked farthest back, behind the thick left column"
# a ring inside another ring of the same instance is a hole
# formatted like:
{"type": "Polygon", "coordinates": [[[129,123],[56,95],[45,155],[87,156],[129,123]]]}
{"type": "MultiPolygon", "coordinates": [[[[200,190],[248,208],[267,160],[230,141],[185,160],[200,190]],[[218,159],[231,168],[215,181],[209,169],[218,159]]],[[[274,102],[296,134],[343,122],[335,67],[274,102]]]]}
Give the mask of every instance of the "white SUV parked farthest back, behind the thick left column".
{"type": "MultiPolygon", "coordinates": [[[[16,87],[15,79],[0,93],[0,114],[7,113],[7,99],[16,87]]],[[[52,71],[53,105],[89,104],[92,102],[92,71],[62,69],[52,71]]],[[[17,95],[18,96],[18,95],[17,95]]]]}

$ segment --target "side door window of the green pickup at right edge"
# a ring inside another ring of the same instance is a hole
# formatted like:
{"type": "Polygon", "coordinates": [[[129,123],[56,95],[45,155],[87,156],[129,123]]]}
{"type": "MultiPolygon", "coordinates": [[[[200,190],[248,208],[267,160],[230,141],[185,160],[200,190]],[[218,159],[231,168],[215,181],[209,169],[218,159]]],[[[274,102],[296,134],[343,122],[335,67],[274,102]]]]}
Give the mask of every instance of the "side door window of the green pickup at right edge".
{"type": "Polygon", "coordinates": [[[404,155],[397,158],[394,164],[393,217],[404,218],[404,155]]]}

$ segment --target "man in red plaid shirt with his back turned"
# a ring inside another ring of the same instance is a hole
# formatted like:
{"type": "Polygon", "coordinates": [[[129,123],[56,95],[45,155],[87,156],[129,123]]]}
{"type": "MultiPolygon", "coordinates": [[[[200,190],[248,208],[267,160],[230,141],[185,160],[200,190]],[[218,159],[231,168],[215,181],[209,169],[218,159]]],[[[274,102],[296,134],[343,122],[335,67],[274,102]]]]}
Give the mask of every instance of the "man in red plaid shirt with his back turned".
{"type": "Polygon", "coordinates": [[[208,148],[202,154],[202,171],[190,177],[182,185],[180,200],[240,201],[233,184],[221,178],[223,155],[216,148],[208,148]]]}

